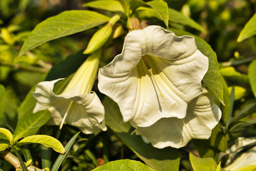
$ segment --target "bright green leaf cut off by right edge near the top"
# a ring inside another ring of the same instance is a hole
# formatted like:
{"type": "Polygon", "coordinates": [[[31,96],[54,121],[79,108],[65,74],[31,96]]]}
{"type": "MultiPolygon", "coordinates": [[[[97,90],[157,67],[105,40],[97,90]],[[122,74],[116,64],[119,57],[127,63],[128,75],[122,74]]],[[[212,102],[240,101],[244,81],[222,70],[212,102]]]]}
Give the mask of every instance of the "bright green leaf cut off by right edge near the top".
{"type": "Polygon", "coordinates": [[[237,42],[242,42],[243,40],[250,38],[256,34],[256,14],[251,17],[249,22],[246,23],[245,27],[243,27],[242,31],[240,32],[237,42]]]}

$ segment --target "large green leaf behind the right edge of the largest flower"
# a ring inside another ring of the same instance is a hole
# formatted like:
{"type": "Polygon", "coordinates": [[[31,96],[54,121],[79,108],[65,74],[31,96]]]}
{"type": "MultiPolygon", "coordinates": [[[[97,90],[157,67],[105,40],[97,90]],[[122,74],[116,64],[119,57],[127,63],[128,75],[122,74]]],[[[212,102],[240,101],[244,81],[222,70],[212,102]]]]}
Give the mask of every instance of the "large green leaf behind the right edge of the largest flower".
{"type": "Polygon", "coordinates": [[[205,42],[205,40],[198,38],[198,36],[195,36],[193,34],[190,34],[186,31],[181,30],[175,30],[173,28],[168,29],[175,33],[177,36],[183,36],[183,35],[191,35],[195,37],[195,44],[197,44],[197,48],[199,51],[202,52],[203,55],[207,56],[209,58],[209,68],[206,72],[205,76],[203,77],[203,84],[205,84],[206,87],[211,89],[213,91],[215,97],[223,104],[223,89],[222,89],[222,83],[221,83],[221,77],[219,76],[219,64],[217,61],[217,56],[211,46],[205,42]]]}

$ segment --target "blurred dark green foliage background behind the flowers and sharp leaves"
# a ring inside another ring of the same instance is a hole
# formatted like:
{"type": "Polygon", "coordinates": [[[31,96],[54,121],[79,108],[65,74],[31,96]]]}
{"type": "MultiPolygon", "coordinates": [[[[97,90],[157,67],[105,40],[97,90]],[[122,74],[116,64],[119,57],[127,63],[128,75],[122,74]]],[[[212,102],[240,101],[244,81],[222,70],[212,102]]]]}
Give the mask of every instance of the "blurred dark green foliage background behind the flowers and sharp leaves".
{"type": "MultiPolygon", "coordinates": [[[[0,1],[0,84],[5,87],[5,95],[0,103],[0,127],[15,129],[18,118],[31,112],[35,101],[29,92],[35,84],[43,80],[69,76],[86,59],[87,55],[83,55],[82,52],[87,47],[91,36],[101,26],[43,43],[19,58],[18,54],[30,31],[38,23],[62,11],[94,10],[109,15],[109,12],[104,10],[83,7],[83,4],[87,2],[89,1],[0,1]],[[30,101],[31,104],[22,103],[25,97],[29,99],[26,101],[30,101]]],[[[105,108],[109,129],[97,136],[79,134],[77,141],[63,161],[61,170],[91,170],[96,166],[119,159],[142,161],[153,168],[164,162],[173,170],[178,168],[179,170],[191,170],[189,152],[199,154],[204,158],[212,157],[218,164],[219,153],[225,153],[226,149],[233,145],[238,137],[256,136],[254,125],[256,119],[255,90],[253,93],[253,87],[251,87],[253,81],[250,75],[248,77],[249,64],[253,68],[251,62],[256,58],[256,37],[251,36],[242,42],[237,42],[242,28],[255,14],[256,2],[254,0],[170,0],[165,2],[171,9],[181,11],[185,16],[199,23],[202,26],[201,29],[206,30],[206,32],[178,22],[170,22],[169,27],[197,35],[210,44],[217,55],[226,106],[221,105],[216,100],[222,109],[223,117],[214,129],[210,140],[193,140],[185,148],[178,150],[166,148],[164,150],[167,155],[162,157],[161,150],[146,145],[140,137],[131,135],[133,128],[130,124],[112,124],[112,120],[122,121],[119,109],[113,101],[103,98],[104,96],[97,89],[96,80],[93,90],[102,100],[104,99],[103,105],[105,107],[111,106],[111,108],[105,108]],[[233,93],[231,91],[232,86],[234,86],[233,93]],[[115,115],[107,115],[107,113],[115,113],[115,115]],[[235,116],[241,117],[236,118],[235,116]],[[150,154],[153,154],[155,159],[150,154]]],[[[139,15],[139,17],[148,25],[166,27],[165,23],[157,18],[149,18],[147,15],[139,15]]],[[[120,21],[125,29],[123,35],[106,44],[105,55],[100,63],[101,67],[121,52],[123,38],[127,34],[125,22],[123,19],[120,21]]],[[[255,73],[255,70],[251,69],[251,73],[253,72],[255,73]]],[[[77,128],[67,125],[61,131],[59,131],[58,126],[44,125],[38,133],[53,136],[65,145],[78,131],[77,128]]],[[[249,147],[252,148],[253,146],[249,147]]],[[[40,145],[29,145],[29,148],[34,165],[42,168],[40,145]]],[[[243,152],[246,150],[244,149],[243,152]]],[[[58,154],[47,150],[46,156],[53,164],[58,154]]],[[[223,155],[221,160],[222,167],[224,167],[227,156],[223,155]]],[[[0,168],[9,170],[11,166],[8,162],[0,160],[0,168]]],[[[158,169],[165,170],[166,168],[158,169]]]]}

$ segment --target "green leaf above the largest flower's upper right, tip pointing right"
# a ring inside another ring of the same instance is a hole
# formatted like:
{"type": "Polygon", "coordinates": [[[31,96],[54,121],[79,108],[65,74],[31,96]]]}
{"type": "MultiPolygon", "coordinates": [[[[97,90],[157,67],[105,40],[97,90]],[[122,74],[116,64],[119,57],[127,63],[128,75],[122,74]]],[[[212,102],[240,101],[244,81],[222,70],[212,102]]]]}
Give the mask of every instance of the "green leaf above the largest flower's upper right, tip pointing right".
{"type": "Polygon", "coordinates": [[[193,19],[186,17],[182,13],[179,13],[179,11],[176,11],[174,9],[168,9],[169,11],[169,21],[174,22],[174,23],[179,23],[182,25],[187,25],[192,28],[195,28],[199,31],[206,32],[205,28],[202,26],[198,25],[197,22],[195,22],[193,19]]]}

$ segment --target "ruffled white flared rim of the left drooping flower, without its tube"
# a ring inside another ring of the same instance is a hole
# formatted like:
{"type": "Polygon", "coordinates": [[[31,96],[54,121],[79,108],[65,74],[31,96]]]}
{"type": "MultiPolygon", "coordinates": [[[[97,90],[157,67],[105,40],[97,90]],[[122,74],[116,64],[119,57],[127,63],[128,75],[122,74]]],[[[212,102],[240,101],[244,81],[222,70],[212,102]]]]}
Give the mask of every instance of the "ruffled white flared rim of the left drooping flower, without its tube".
{"type": "Polygon", "coordinates": [[[33,112],[49,109],[51,119],[47,124],[53,125],[60,125],[67,112],[65,123],[78,127],[83,133],[106,131],[104,107],[96,93],[78,96],[55,95],[53,87],[58,80],[38,84],[33,92],[37,100],[33,112]]]}

